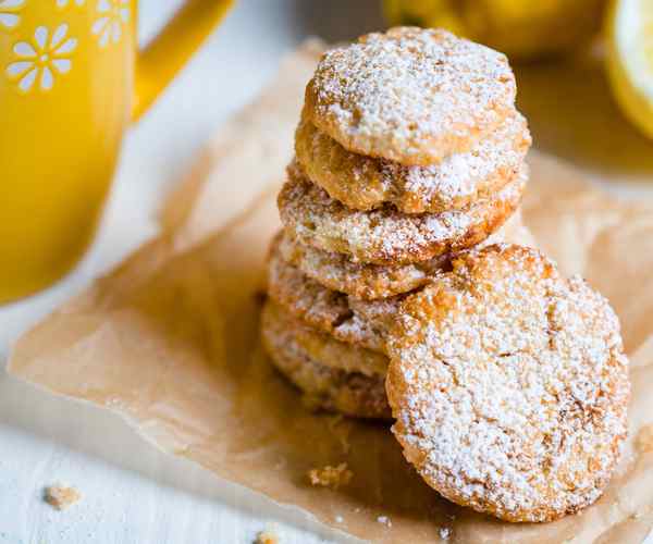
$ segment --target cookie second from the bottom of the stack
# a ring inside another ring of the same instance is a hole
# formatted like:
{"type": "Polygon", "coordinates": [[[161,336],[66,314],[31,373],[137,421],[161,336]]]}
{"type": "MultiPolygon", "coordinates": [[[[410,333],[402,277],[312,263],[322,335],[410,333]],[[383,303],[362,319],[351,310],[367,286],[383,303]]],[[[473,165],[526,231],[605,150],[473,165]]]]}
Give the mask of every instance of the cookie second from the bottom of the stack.
{"type": "Polygon", "coordinates": [[[324,287],[282,258],[280,242],[280,236],[272,242],[268,259],[270,298],[338,341],[384,351],[384,335],[402,298],[364,301],[324,287]]]}

